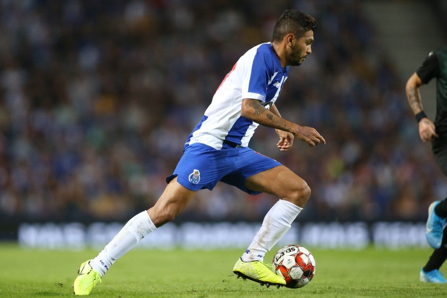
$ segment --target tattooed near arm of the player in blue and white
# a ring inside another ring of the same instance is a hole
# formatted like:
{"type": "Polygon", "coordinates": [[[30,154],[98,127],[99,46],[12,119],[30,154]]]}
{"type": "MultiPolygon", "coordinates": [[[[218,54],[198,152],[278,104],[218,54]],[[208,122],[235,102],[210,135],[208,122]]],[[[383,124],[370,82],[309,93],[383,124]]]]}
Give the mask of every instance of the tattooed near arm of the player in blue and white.
{"type": "Polygon", "coordinates": [[[280,138],[282,135],[284,136],[284,134],[280,135],[281,132],[278,132],[278,130],[291,133],[309,146],[316,146],[320,142],[326,144],[324,138],[314,128],[299,126],[298,124],[282,118],[278,109],[274,105],[271,109],[272,110],[266,109],[259,100],[245,98],[242,99],[241,116],[261,125],[277,129],[280,138]]]}

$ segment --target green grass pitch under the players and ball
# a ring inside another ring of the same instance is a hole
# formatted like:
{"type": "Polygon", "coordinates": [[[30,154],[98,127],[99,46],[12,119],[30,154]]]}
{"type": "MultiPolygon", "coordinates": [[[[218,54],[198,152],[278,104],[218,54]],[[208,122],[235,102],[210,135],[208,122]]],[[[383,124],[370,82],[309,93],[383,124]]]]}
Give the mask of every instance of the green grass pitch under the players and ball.
{"type": "MultiPolygon", "coordinates": [[[[240,250],[134,249],[113,265],[90,297],[447,297],[447,285],[419,282],[419,270],[431,249],[308,248],[315,256],[317,269],[314,279],[301,289],[267,289],[236,279],[231,269],[240,250]]],[[[0,297],[74,297],[76,270],[96,253],[0,244],[0,297]]],[[[271,258],[273,252],[266,260],[271,258]]]]}

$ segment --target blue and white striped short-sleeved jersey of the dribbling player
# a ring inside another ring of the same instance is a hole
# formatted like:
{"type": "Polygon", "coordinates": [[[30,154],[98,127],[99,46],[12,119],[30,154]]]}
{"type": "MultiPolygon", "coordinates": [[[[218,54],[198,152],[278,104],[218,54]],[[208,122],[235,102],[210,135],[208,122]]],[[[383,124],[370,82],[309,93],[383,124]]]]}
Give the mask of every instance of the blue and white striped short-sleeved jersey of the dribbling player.
{"type": "Polygon", "coordinates": [[[241,117],[242,99],[258,99],[270,108],[278,99],[288,73],[289,67],[281,66],[271,43],[248,50],[224,77],[185,148],[194,143],[215,149],[247,147],[259,124],[241,117]]]}

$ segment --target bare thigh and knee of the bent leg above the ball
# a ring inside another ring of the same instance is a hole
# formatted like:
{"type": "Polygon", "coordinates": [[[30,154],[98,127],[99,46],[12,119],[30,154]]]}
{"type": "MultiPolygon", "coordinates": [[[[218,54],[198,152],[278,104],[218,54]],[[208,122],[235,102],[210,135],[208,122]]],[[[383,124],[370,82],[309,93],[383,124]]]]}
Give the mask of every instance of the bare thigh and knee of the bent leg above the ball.
{"type": "Polygon", "coordinates": [[[306,182],[284,165],[257,173],[245,180],[245,186],[254,191],[265,192],[279,198],[306,185],[306,182]]]}

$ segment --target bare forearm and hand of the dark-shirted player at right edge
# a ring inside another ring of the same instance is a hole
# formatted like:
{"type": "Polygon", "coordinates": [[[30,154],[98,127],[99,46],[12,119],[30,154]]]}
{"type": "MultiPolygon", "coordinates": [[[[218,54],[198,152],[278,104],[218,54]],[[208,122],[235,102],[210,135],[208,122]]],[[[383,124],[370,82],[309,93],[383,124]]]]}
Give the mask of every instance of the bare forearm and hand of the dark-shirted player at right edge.
{"type": "MultiPolygon", "coordinates": [[[[419,92],[419,87],[421,85],[422,80],[416,73],[410,76],[405,85],[407,100],[415,115],[424,111],[422,108],[421,93],[419,92]]],[[[419,137],[424,143],[439,138],[435,131],[435,125],[427,117],[422,118],[421,121],[419,121],[419,137]]]]}

